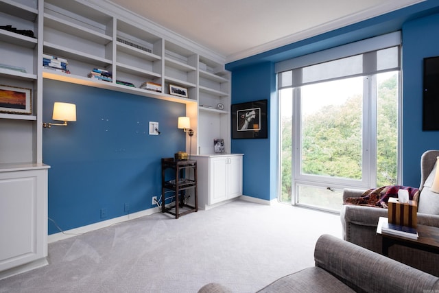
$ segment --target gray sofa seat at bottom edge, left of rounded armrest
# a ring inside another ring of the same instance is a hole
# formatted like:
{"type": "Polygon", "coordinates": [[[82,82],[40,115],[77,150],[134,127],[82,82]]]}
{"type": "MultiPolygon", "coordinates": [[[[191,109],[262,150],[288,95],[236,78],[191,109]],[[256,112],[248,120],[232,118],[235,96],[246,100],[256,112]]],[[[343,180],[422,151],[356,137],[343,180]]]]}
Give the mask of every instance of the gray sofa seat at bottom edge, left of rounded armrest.
{"type": "Polygon", "coordinates": [[[258,292],[355,292],[332,274],[322,268],[305,268],[288,274],[267,285],[258,292]]]}

